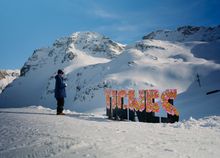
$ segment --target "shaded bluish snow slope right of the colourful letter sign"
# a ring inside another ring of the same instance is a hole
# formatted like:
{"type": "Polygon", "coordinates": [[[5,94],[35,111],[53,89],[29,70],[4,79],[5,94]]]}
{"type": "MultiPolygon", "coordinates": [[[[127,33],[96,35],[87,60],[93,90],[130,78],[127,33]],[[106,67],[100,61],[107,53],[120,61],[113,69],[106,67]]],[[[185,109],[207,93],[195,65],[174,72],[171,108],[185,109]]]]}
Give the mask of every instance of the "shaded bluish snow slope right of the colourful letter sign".
{"type": "Polygon", "coordinates": [[[187,91],[178,96],[177,108],[181,110],[181,118],[203,118],[220,115],[220,92],[207,95],[207,92],[220,90],[220,71],[201,76],[201,87],[194,81],[187,91]]]}

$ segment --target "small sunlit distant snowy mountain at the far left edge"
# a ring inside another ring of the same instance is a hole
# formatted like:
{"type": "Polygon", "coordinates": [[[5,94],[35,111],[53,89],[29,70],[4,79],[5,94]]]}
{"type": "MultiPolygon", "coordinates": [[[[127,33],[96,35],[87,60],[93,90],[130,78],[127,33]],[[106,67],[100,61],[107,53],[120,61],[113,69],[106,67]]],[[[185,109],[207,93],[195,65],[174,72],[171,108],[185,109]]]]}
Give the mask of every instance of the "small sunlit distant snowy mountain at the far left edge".
{"type": "Polygon", "coordinates": [[[19,70],[0,70],[0,93],[19,75],[19,70]]]}

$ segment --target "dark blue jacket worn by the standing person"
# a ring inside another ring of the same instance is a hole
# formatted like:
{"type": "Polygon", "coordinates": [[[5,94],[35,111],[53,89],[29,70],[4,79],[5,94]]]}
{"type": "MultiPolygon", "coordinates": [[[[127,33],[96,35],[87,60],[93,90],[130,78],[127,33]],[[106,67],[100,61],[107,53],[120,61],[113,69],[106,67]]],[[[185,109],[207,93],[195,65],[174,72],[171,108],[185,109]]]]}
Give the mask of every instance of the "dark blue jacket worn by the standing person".
{"type": "Polygon", "coordinates": [[[66,97],[66,84],[63,82],[63,77],[60,75],[55,76],[55,98],[64,98],[66,97]]]}

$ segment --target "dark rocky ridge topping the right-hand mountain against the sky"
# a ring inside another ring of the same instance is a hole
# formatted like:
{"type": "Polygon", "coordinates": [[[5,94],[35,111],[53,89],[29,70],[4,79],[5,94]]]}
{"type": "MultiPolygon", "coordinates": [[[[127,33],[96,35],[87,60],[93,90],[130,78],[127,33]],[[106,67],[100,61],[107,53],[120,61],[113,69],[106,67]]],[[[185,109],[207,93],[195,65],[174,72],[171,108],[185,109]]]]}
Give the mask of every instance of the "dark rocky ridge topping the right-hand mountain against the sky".
{"type": "Polygon", "coordinates": [[[220,39],[220,25],[216,27],[183,26],[176,30],[158,30],[143,37],[166,41],[215,41],[220,39]]]}

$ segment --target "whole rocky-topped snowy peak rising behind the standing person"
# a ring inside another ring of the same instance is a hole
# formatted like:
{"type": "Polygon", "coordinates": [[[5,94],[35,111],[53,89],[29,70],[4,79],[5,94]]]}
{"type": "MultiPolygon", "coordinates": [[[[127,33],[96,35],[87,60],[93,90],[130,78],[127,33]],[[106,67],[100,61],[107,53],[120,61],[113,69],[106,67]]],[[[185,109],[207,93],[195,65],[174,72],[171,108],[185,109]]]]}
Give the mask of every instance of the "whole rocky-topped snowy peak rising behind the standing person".
{"type": "Polygon", "coordinates": [[[54,100],[54,75],[64,69],[67,75],[67,106],[71,109],[76,95],[75,79],[81,67],[105,63],[116,58],[124,49],[98,33],[77,32],[55,41],[52,47],[34,51],[21,69],[21,76],[0,96],[0,107],[42,104],[56,107],[54,100]]]}

